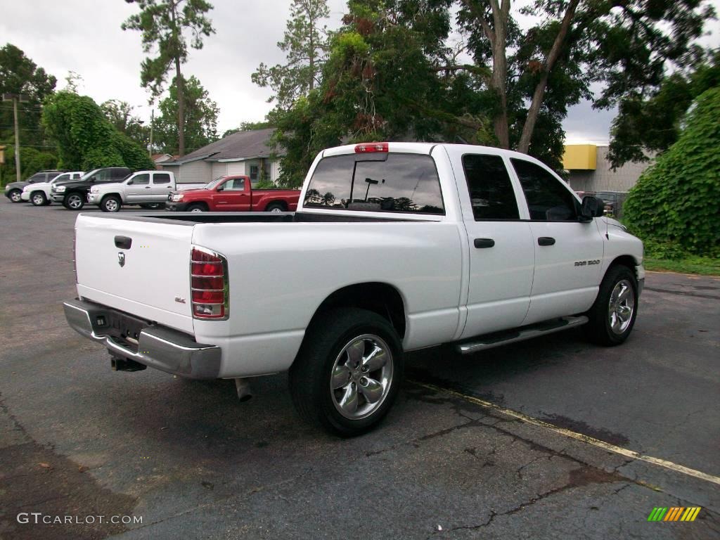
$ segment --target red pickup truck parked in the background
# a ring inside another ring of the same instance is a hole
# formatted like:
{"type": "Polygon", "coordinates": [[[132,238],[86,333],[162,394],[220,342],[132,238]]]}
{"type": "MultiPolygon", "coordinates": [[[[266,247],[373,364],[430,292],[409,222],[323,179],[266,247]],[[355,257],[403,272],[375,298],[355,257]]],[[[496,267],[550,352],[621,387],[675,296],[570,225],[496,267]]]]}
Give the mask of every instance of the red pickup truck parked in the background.
{"type": "Polygon", "coordinates": [[[294,212],[300,191],[253,189],[249,176],[221,176],[202,189],[172,192],[166,204],[176,212],[294,212]]]}

